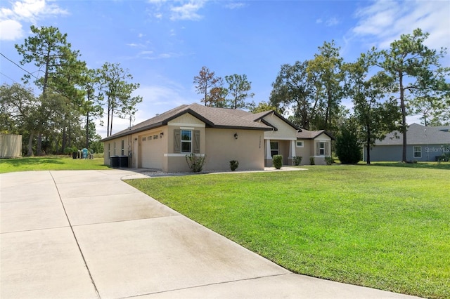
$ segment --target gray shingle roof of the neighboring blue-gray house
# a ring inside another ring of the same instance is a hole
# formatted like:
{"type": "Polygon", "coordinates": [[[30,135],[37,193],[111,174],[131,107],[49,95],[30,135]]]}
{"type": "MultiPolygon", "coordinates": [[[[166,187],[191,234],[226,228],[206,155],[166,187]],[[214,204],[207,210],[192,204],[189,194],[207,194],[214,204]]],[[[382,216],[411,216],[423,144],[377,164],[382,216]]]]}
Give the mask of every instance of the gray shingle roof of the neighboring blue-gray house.
{"type": "MultiPolygon", "coordinates": [[[[406,142],[409,145],[450,144],[450,133],[439,131],[432,126],[411,124],[406,132],[406,142]]],[[[394,131],[386,135],[383,140],[377,140],[375,145],[402,145],[403,135],[394,131]],[[397,138],[396,138],[397,136],[397,138]]]]}

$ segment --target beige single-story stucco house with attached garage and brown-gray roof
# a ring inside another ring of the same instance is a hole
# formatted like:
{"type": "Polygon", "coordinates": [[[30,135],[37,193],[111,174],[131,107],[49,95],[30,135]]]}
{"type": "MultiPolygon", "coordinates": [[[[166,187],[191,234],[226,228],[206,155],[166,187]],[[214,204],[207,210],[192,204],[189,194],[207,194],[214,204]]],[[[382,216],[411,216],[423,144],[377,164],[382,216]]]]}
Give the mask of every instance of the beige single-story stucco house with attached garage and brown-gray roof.
{"type": "Polygon", "coordinates": [[[229,171],[237,160],[239,170],[264,170],[275,154],[283,164],[325,164],[331,155],[332,135],[297,128],[274,111],[252,114],[240,109],[181,105],[124,131],[104,138],[105,164],[111,157],[128,157],[131,168],[164,172],[190,171],[187,154],[205,156],[203,171],[229,171]]]}

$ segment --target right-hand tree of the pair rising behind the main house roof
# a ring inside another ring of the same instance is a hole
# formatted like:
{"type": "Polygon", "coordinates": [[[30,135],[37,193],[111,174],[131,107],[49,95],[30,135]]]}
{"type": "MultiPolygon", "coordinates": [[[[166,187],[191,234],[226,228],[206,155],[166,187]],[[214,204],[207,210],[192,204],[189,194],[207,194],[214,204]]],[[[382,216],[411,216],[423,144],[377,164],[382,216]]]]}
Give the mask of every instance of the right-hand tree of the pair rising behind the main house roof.
{"type": "Polygon", "coordinates": [[[255,93],[250,93],[252,82],[248,81],[246,74],[233,74],[225,76],[226,83],[229,84],[227,90],[229,95],[229,105],[233,109],[248,108],[250,103],[245,102],[246,98],[253,98],[255,93]]]}

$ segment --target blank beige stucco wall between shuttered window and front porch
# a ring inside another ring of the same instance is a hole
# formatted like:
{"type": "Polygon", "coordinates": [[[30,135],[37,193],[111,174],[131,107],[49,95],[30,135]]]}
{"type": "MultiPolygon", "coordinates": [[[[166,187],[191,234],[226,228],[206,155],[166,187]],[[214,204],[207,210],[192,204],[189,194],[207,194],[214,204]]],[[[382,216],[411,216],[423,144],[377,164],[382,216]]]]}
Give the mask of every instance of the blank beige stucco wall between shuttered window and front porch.
{"type": "Polygon", "coordinates": [[[239,162],[238,170],[263,170],[264,132],[207,128],[205,154],[205,171],[229,171],[231,160],[239,162]]]}

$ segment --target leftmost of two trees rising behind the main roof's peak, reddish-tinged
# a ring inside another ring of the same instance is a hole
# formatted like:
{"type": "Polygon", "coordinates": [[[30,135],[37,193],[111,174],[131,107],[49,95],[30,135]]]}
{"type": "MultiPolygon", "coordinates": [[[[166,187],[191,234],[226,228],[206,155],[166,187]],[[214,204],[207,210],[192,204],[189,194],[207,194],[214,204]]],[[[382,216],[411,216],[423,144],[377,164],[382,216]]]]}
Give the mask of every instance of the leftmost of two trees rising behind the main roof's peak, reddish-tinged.
{"type": "Polygon", "coordinates": [[[195,85],[195,91],[198,94],[203,95],[201,102],[205,103],[205,106],[210,107],[220,107],[221,104],[215,101],[222,102],[224,98],[218,95],[223,95],[221,88],[223,85],[223,80],[221,77],[216,77],[214,72],[211,72],[207,67],[202,67],[198,76],[194,77],[193,81],[195,85]],[[212,91],[212,92],[211,92],[212,91]]]}

